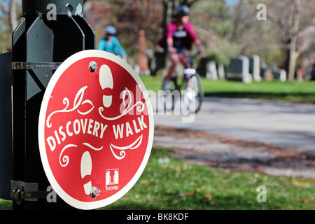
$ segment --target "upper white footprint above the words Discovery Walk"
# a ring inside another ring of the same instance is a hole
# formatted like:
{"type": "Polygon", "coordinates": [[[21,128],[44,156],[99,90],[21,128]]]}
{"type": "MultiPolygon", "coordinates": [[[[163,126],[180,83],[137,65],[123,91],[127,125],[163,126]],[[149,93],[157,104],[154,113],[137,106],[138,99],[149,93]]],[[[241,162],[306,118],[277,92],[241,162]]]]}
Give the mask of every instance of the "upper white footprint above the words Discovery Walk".
{"type": "MultiPolygon", "coordinates": [[[[113,89],[113,74],[106,64],[103,64],[99,69],[99,83],[101,84],[102,90],[106,88],[113,89]]],[[[113,96],[103,95],[103,104],[106,108],[109,108],[112,102],[113,96]]]]}

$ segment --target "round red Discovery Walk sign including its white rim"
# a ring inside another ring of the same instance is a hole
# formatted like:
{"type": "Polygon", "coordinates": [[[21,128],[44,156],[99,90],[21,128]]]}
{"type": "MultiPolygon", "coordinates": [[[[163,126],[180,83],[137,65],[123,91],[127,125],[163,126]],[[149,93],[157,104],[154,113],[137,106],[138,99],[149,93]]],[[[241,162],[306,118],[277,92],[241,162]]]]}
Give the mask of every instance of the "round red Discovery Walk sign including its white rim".
{"type": "Polygon", "coordinates": [[[45,174],[78,209],[118,200],[134,186],[151,153],[153,111],[141,79],[100,50],[72,55],[45,91],[38,143],[45,174]]]}

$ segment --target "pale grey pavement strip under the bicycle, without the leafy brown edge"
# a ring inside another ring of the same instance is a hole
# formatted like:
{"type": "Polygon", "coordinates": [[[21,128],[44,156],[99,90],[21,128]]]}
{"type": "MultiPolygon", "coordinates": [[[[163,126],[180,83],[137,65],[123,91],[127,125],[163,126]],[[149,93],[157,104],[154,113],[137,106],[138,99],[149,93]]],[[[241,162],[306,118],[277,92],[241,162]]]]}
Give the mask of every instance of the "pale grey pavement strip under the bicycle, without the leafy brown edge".
{"type": "Polygon", "coordinates": [[[155,124],[203,130],[222,137],[255,141],[295,151],[315,151],[315,105],[270,102],[256,99],[206,97],[197,115],[162,110],[158,97],[151,97],[155,124]]]}

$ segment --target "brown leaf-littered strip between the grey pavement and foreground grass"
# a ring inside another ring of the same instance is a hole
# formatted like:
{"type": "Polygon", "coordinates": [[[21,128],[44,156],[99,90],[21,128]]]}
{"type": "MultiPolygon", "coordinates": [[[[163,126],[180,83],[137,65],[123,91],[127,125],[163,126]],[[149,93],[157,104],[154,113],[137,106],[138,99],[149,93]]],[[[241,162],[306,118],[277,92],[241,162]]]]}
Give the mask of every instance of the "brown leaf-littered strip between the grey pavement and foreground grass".
{"type": "Polygon", "coordinates": [[[315,179],[315,152],[220,137],[202,131],[155,126],[154,146],[174,148],[174,157],[210,167],[273,176],[315,179]]]}

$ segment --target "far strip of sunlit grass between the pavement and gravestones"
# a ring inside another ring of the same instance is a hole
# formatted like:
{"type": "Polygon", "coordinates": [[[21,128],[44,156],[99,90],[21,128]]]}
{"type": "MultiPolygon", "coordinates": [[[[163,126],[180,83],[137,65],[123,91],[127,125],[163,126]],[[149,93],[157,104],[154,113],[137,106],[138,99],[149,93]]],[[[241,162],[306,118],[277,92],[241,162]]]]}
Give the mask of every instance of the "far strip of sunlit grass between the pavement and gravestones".
{"type": "MultiPolygon", "coordinates": [[[[162,87],[162,78],[141,76],[148,90],[158,92],[162,87]]],[[[202,78],[204,92],[209,97],[272,99],[296,103],[315,104],[315,81],[303,83],[280,81],[262,81],[245,84],[228,80],[208,80],[202,78]]]]}

